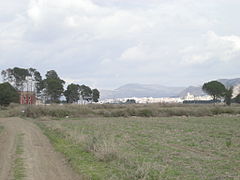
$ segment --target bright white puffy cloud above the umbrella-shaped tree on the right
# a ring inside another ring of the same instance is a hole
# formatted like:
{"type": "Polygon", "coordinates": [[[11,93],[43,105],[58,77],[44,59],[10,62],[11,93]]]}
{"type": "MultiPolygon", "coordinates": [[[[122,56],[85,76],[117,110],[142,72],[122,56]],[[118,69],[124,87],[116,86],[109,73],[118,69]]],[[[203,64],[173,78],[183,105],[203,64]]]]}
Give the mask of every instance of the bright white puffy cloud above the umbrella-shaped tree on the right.
{"type": "Polygon", "coordinates": [[[240,56],[240,36],[220,36],[209,31],[198,44],[184,48],[183,62],[201,64],[208,61],[228,62],[240,56]]]}

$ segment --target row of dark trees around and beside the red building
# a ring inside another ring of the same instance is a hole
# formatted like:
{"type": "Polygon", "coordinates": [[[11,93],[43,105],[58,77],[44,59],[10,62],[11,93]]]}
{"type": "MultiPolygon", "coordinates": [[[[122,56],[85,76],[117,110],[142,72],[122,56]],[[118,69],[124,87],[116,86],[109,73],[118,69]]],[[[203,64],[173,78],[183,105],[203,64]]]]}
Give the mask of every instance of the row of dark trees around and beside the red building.
{"type": "Polygon", "coordinates": [[[67,103],[76,103],[80,98],[98,102],[100,97],[98,89],[86,85],[72,83],[65,90],[65,81],[55,70],[47,71],[44,79],[34,68],[8,68],[2,70],[1,75],[3,83],[0,84],[0,105],[18,102],[19,91],[32,91],[46,103],[60,103],[62,96],[65,96],[67,103]]]}

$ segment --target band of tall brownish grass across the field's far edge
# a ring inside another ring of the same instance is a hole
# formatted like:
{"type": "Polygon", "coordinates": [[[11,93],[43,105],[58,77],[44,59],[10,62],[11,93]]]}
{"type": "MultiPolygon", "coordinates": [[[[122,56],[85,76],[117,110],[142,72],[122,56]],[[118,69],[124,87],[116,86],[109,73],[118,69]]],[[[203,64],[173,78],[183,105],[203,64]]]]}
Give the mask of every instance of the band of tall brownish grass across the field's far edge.
{"type": "Polygon", "coordinates": [[[169,116],[214,116],[240,114],[240,106],[185,105],[185,104],[89,104],[89,105],[12,105],[1,110],[2,116],[39,117],[169,117],[169,116]]]}

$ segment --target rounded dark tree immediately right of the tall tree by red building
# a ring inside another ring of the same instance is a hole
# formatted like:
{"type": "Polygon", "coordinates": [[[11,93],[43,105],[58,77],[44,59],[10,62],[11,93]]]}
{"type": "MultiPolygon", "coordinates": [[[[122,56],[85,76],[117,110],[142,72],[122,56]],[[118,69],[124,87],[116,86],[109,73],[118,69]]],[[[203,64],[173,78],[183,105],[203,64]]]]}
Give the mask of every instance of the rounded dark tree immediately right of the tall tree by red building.
{"type": "Polygon", "coordinates": [[[66,97],[67,103],[77,102],[80,96],[80,86],[78,84],[68,85],[67,90],[64,91],[64,96],[66,97]]]}

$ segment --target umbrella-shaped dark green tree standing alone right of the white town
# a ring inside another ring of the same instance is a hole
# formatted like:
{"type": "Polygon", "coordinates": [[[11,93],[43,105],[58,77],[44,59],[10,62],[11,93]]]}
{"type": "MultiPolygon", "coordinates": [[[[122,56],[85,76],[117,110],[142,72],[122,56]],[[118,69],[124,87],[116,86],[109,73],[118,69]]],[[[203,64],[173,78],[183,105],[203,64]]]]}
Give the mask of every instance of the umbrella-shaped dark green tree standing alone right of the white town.
{"type": "Polygon", "coordinates": [[[211,81],[203,84],[202,90],[213,97],[213,101],[224,97],[226,92],[225,86],[218,81],[211,81]]]}

